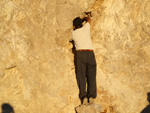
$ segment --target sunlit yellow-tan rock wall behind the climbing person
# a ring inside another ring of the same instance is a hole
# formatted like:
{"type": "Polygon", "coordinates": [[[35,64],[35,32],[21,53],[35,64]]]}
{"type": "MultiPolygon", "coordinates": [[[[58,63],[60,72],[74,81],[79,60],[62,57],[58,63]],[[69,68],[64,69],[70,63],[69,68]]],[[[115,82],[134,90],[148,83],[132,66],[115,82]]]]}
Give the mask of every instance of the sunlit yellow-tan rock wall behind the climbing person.
{"type": "Polygon", "coordinates": [[[80,104],[72,20],[92,11],[96,103],[139,113],[150,92],[149,0],[1,0],[0,104],[16,113],[74,113],[80,104]]]}

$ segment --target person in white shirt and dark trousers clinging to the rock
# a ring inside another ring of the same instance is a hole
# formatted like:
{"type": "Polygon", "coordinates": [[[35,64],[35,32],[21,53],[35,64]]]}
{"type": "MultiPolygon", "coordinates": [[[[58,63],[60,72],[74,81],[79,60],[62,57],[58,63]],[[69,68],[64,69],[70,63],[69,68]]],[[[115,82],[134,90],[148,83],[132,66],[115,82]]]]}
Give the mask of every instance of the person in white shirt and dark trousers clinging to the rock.
{"type": "Polygon", "coordinates": [[[73,31],[71,40],[74,41],[76,49],[76,78],[79,87],[79,98],[81,104],[94,103],[97,96],[96,86],[96,59],[90,36],[91,18],[76,17],[73,20],[73,31]],[[85,24],[83,25],[83,22],[85,24]],[[87,89],[86,89],[87,84],[87,89]]]}

